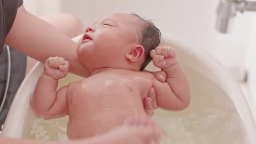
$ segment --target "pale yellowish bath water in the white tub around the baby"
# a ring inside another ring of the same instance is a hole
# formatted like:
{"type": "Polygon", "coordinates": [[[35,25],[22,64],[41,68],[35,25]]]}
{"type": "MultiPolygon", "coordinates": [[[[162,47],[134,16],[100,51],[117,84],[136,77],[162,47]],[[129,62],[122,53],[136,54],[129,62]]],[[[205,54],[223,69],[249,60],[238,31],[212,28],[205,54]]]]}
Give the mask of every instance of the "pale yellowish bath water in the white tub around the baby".
{"type": "MultiPolygon", "coordinates": [[[[243,121],[229,96],[196,70],[182,66],[191,88],[191,103],[184,111],[156,110],[153,118],[167,133],[161,144],[246,144],[243,121]]],[[[81,78],[69,75],[59,87],[81,78]]],[[[68,117],[40,120],[31,115],[23,137],[67,140],[68,117]]]]}

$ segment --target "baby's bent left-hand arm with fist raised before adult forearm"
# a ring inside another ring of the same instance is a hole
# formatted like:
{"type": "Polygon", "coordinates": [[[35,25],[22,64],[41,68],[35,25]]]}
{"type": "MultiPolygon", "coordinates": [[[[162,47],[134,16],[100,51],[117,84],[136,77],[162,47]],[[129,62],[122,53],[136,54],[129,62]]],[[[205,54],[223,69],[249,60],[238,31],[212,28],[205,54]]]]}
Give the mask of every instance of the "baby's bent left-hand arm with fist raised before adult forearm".
{"type": "Polygon", "coordinates": [[[38,117],[55,118],[68,112],[66,100],[67,86],[57,92],[58,80],[69,71],[69,62],[63,58],[51,57],[46,60],[44,72],[40,76],[31,99],[33,110],[38,117]]]}

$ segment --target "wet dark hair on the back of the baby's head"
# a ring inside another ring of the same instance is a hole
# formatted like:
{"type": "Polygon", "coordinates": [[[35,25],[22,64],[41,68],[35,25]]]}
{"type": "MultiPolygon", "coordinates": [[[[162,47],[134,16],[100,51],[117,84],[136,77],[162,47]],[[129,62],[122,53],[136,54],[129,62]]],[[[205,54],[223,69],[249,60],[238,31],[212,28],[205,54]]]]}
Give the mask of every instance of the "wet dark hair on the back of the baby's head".
{"type": "Polygon", "coordinates": [[[138,26],[137,32],[138,40],[145,50],[145,61],[141,65],[142,71],[152,61],[150,51],[160,45],[161,32],[151,20],[145,20],[136,13],[131,13],[131,15],[137,16],[141,20],[141,26],[138,26]]]}

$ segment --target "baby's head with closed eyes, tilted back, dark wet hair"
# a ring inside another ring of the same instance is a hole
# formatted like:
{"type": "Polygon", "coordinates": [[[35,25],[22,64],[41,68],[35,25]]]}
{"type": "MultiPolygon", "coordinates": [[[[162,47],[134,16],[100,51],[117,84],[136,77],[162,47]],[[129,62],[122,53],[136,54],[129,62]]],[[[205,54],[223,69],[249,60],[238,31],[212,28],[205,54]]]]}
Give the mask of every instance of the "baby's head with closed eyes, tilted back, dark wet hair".
{"type": "Polygon", "coordinates": [[[91,71],[117,68],[140,71],[151,62],[150,51],[161,33],[136,14],[112,13],[87,27],[77,55],[91,71]]]}

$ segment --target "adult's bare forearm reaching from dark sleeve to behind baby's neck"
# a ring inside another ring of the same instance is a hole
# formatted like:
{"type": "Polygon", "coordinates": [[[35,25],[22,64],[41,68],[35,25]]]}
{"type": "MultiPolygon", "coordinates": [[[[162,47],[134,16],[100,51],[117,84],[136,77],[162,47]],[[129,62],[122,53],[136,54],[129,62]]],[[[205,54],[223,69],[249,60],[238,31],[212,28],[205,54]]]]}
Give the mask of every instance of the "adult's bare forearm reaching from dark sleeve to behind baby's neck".
{"type": "Polygon", "coordinates": [[[76,56],[76,43],[59,29],[27,12],[18,9],[16,19],[5,44],[40,62],[49,57],[63,57],[70,63],[70,72],[87,77],[89,70],[76,56]]]}

